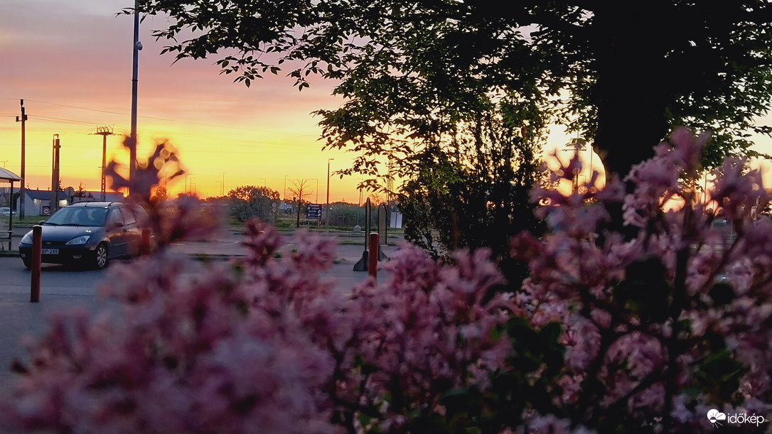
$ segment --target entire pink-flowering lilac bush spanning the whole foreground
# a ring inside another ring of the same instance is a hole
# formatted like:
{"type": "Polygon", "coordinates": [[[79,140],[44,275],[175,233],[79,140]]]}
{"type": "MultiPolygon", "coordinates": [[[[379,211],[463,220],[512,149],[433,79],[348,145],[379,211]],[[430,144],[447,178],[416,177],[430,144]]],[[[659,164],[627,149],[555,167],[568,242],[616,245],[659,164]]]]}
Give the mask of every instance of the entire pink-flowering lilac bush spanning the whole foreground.
{"type": "MultiPolygon", "coordinates": [[[[52,318],[14,367],[2,428],[699,432],[712,410],[768,420],[772,222],[755,211],[769,197],[732,160],[696,200],[706,140],[677,130],[629,174],[632,193],[595,177],[570,195],[534,190],[560,230],[513,239],[530,266],[515,292],[485,249],[451,265],[409,246],[387,281],[340,291],[323,273],[330,240],[285,244],[257,220],[247,257],[198,263],[165,247],[215,228],[212,213],[193,198],[147,205],[157,251],[113,267],[118,283],[101,289],[120,315],[52,318]]],[[[176,163],[162,151],[143,167],[176,163]]]]}

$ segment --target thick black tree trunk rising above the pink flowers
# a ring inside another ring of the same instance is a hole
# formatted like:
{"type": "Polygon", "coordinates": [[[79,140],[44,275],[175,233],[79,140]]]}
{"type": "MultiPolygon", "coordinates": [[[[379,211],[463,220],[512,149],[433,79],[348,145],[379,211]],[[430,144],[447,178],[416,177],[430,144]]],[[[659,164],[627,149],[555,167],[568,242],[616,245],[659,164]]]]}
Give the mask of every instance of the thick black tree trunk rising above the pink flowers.
{"type": "Polygon", "coordinates": [[[599,39],[594,41],[598,81],[591,89],[598,109],[593,147],[606,173],[624,178],[654,155],[669,130],[672,72],[665,68],[667,31],[659,29],[669,12],[661,0],[634,9],[621,2],[604,12],[595,15],[594,25],[599,39]]]}

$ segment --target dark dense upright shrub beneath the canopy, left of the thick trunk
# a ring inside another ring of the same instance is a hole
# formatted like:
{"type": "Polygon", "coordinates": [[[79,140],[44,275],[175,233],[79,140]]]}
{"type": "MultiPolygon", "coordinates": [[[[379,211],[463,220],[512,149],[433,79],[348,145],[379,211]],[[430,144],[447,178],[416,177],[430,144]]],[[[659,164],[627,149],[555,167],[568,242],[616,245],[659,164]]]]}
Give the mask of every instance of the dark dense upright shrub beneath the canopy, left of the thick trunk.
{"type": "Polygon", "coordinates": [[[413,157],[421,170],[399,197],[405,239],[435,256],[489,247],[511,282],[525,277],[524,266],[511,261],[509,240],[523,230],[543,232],[529,191],[543,177],[536,153],[545,124],[524,107],[499,103],[459,130],[452,145],[413,157]]]}

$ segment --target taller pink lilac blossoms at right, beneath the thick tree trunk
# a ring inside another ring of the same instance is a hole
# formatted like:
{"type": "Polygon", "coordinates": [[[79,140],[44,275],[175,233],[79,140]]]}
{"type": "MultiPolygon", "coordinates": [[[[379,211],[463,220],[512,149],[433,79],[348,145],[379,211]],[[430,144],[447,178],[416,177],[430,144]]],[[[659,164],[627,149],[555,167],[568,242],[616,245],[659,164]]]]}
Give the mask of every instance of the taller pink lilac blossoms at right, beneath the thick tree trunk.
{"type": "Polygon", "coordinates": [[[733,160],[710,201],[696,200],[708,139],[675,131],[631,171],[628,194],[614,180],[597,194],[548,192],[542,212],[561,230],[511,244],[530,262],[517,297],[530,321],[564,325],[557,413],[574,423],[699,430],[706,406],[772,409],[772,221],[754,218],[769,197],[733,160]],[[602,229],[620,202],[632,233],[602,229]]]}

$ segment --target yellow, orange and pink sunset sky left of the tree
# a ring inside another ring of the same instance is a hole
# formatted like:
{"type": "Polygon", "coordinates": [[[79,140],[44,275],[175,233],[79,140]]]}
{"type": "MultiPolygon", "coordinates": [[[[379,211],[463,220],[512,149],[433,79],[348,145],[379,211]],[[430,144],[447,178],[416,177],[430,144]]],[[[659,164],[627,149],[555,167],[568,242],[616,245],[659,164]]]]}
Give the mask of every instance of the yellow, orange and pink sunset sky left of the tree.
{"type": "MultiPolygon", "coordinates": [[[[131,0],[2,0],[0,3],[0,167],[20,174],[19,99],[24,99],[26,174],[30,188],[48,190],[53,134],[61,140],[61,178],[65,187],[100,188],[102,137],[97,126],[130,133],[133,19],[117,15],[131,0]]],[[[212,59],[185,59],[159,53],[151,30],[165,19],[147,17],[141,25],[139,59],[139,154],[168,139],[188,170],[170,190],[196,190],[217,196],[223,177],[227,193],[241,185],[266,184],[284,192],[285,180],[310,181],[310,200],[325,200],[327,159],[331,169],[349,167],[350,153],[321,151],[317,109],[334,109],[333,82],[317,79],[298,92],[286,72],[268,74],[247,89],[218,75],[212,59]],[[317,181],[318,180],[318,181],[317,181]]],[[[760,119],[770,123],[770,119],[760,119]]],[[[550,146],[567,142],[554,127],[550,146]]],[[[127,161],[122,137],[107,140],[107,159],[127,161]]],[[[758,149],[772,153],[772,140],[758,149]]],[[[597,160],[596,160],[597,163],[597,160]]],[[[356,177],[330,181],[330,200],[356,203],[356,177]]],[[[7,184],[6,184],[7,185],[7,184]]]]}

